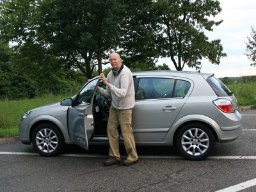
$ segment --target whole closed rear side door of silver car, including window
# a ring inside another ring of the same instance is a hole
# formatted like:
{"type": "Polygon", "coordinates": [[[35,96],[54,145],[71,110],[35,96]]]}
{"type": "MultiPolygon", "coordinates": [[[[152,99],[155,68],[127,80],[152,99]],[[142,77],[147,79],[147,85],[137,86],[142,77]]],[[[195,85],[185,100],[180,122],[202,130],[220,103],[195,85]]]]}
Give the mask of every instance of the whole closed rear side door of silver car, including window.
{"type": "Polygon", "coordinates": [[[170,77],[139,79],[135,81],[138,86],[135,84],[136,102],[132,111],[134,138],[136,143],[161,142],[188,99],[186,94],[182,97],[175,95],[178,95],[180,88],[184,91],[190,83],[170,77]]]}

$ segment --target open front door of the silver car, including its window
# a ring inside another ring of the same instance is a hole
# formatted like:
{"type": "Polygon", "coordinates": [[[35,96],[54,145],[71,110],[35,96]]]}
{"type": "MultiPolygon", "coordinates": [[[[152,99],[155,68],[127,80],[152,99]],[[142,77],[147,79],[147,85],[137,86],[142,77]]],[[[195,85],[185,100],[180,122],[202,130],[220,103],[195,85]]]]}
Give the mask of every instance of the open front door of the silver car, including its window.
{"type": "Polygon", "coordinates": [[[88,150],[88,140],[92,137],[93,127],[93,97],[99,79],[93,79],[85,84],[75,99],[75,104],[68,109],[68,132],[70,140],[88,150]]]}

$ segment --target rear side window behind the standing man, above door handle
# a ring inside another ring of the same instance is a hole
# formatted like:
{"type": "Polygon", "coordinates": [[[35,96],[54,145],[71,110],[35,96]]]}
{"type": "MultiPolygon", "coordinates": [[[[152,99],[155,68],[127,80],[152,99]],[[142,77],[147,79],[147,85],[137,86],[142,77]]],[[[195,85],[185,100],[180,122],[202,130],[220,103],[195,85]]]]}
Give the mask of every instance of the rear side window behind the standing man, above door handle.
{"type": "Polygon", "coordinates": [[[136,100],[185,97],[190,83],[167,78],[140,78],[136,100]]]}

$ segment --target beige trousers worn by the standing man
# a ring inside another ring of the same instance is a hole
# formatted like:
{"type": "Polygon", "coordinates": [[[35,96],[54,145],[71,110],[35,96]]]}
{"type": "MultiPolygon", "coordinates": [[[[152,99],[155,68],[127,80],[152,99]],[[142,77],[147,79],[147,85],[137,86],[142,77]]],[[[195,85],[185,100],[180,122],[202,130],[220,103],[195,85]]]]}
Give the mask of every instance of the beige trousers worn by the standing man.
{"type": "Polygon", "coordinates": [[[113,106],[110,107],[107,128],[109,156],[116,157],[116,159],[121,161],[118,143],[118,125],[121,127],[122,136],[124,138],[124,146],[128,155],[127,159],[136,161],[138,159],[138,154],[132,133],[132,109],[115,109],[113,106]]]}

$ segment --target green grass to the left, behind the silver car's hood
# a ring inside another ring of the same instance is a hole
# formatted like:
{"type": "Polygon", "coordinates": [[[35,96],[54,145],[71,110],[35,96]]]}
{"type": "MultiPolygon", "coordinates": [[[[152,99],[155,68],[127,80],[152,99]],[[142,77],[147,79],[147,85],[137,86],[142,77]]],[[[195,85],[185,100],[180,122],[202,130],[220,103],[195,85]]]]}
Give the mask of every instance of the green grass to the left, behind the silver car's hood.
{"type": "Polygon", "coordinates": [[[43,95],[35,99],[0,100],[0,138],[18,136],[20,118],[29,109],[73,95],[43,95]]]}

